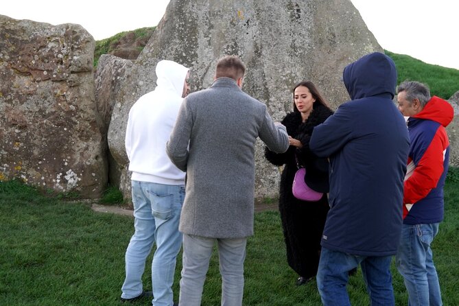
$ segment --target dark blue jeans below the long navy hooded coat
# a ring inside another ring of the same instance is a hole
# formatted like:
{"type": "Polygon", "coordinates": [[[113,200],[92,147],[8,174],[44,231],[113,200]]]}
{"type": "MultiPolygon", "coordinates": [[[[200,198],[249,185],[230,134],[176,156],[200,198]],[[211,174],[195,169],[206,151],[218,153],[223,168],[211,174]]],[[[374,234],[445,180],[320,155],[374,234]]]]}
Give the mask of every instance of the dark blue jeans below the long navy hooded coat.
{"type": "Polygon", "coordinates": [[[349,271],[359,266],[370,295],[370,305],[395,305],[390,274],[391,256],[358,256],[323,248],[320,252],[317,287],[325,306],[350,306],[346,285],[349,271]]]}

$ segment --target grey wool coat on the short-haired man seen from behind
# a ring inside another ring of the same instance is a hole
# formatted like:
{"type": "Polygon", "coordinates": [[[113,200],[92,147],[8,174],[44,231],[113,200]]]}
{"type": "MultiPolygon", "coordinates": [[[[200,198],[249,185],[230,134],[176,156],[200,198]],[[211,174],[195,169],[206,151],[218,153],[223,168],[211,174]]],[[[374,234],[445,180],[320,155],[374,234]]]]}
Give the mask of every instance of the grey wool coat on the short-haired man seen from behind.
{"type": "Polygon", "coordinates": [[[187,172],[179,231],[212,238],[253,235],[255,140],[274,152],[289,147],[284,126],[235,80],[218,78],[180,107],[167,154],[187,172]]]}

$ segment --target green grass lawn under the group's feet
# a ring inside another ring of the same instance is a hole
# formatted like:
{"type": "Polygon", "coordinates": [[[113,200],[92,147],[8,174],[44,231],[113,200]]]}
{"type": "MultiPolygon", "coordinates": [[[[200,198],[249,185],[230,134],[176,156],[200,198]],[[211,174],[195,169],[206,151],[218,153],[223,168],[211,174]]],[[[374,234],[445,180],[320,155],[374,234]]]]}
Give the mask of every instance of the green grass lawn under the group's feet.
{"type": "MultiPolygon", "coordinates": [[[[459,183],[453,180],[445,187],[445,221],[432,246],[444,305],[459,305],[459,183]]],[[[132,222],[132,217],[95,213],[84,203],[62,202],[19,181],[0,182],[0,305],[121,305],[132,222]]],[[[181,254],[177,267],[176,301],[181,254]]],[[[145,288],[151,288],[150,268],[151,257],[145,288]]],[[[392,275],[396,305],[406,305],[408,295],[394,266],[392,275]]],[[[320,305],[315,281],[294,285],[296,274],[287,266],[277,211],[255,214],[245,278],[244,305],[320,305]]],[[[220,305],[220,287],[214,251],[202,305],[220,305]]],[[[360,270],[348,291],[353,305],[368,305],[360,270]]],[[[148,298],[143,302],[148,305],[148,298]]]]}

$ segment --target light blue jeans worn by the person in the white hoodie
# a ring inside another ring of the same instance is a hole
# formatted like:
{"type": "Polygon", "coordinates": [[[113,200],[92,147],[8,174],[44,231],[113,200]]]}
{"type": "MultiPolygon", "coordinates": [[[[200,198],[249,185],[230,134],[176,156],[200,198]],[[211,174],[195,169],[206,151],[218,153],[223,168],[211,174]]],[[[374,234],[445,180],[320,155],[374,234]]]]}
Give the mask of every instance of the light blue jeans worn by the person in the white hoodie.
{"type": "Polygon", "coordinates": [[[122,298],[135,298],[142,293],[145,261],[156,243],[152,262],[152,303],[172,306],[176,258],[182,245],[178,222],[184,198],[183,185],[132,181],[135,232],[126,250],[122,298]]]}

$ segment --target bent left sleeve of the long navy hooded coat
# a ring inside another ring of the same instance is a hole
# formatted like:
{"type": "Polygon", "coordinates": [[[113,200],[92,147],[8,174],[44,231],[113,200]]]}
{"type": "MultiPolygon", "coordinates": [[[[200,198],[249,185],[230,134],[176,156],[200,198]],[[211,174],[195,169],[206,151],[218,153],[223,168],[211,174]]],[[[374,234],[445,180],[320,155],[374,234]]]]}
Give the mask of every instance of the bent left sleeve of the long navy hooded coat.
{"type": "Polygon", "coordinates": [[[349,105],[342,104],[324,123],[314,127],[309,141],[311,152],[329,157],[341,150],[352,138],[353,120],[349,105]]]}

